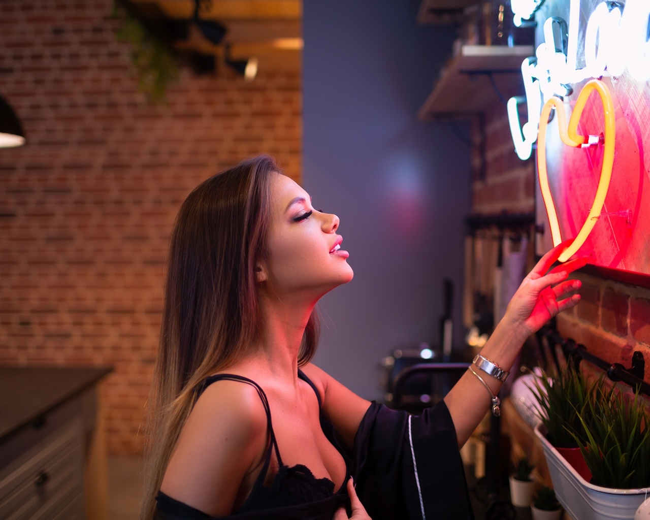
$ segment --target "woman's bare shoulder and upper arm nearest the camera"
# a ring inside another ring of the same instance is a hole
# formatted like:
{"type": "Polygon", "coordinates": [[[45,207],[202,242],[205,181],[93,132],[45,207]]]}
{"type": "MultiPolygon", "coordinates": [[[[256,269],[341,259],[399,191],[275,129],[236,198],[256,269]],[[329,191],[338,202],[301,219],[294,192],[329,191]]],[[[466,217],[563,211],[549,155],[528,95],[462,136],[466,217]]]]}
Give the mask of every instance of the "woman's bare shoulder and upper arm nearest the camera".
{"type": "Polygon", "coordinates": [[[209,515],[228,515],[244,478],[261,462],[266,441],[257,390],[242,382],[214,382],[183,426],[161,491],[209,515]]]}

